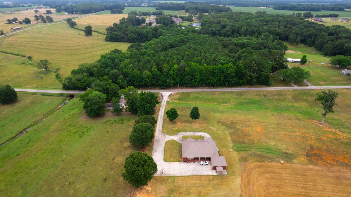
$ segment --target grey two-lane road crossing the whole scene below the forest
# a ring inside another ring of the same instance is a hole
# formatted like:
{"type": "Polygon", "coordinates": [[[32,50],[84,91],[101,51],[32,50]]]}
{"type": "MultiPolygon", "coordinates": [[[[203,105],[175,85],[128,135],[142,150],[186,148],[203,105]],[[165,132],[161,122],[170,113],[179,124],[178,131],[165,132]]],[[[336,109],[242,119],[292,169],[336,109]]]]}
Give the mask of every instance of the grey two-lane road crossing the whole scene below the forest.
{"type": "MultiPolygon", "coordinates": [[[[179,89],[179,92],[195,92],[195,91],[252,91],[252,90],[308,90],[308,89],[320,89],[321,86],[303,86],[303,87],[267,87],[267,88],[202,88],[202,89],[179,89]]],[[[322,86],[322,89],[349,89],[351,86],[322,86]]],[[[69,94],[82,94],[85,91],[79,90],[35,90],[35,89],[19,89],[15,88],[16,91],[28,91],[28,92],[39,92],[39,93],[69,93],[69,94]]],[[[140,92],[141,90],[139,90],[140,92]]],[[[175,92],[176,89],[163,89],[163,90],[143,90],[151,91],[155,93],[160,92],[175,92]]]]}

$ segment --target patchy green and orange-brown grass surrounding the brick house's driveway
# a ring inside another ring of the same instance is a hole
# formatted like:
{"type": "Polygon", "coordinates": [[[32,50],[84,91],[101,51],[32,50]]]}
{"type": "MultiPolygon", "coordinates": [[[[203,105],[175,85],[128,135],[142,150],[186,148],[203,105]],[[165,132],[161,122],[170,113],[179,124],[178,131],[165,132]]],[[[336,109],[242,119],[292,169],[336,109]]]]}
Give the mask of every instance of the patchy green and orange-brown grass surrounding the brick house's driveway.
{"type": "Polygon", "coordinates": [[[154,177],[137,194],[154,196],[240,196],[239,162],[280,162],[351,167],[351,105],[349,90],[338,89],[335,113],[321,125],[322,107],[314,98],[318,90],[267,90],[180,93],[166,109],[174,107],[175,123],[164,120],[163,132],[210,134],[226,157],[228,175],[154,177]],[[189,117],[197,106],[200,119],[189,117]],[[186,179],[187,181],[184,181],[186,179]],[[220,187],[218,187],[220,185],[220,187]]]}

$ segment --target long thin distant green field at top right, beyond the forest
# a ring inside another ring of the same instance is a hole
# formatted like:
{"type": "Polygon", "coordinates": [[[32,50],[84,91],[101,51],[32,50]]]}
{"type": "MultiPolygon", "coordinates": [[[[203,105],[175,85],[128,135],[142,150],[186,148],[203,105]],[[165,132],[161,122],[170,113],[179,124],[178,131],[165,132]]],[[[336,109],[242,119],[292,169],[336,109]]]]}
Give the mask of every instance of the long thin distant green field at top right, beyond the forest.
{"type": "MultiPolygon", "coordinates": [[[[290,10],[277,10],[271,8],[260,8],[260,7],[236,7],[230,6],[233,12],[252,12],[265,11],[267,14],[292,14],[294,13],[304,13],[304,11],[290,11],[290,10]]],[[[337,12],[337,11],[320,11],[320,12],[311,12],[313,15],[316,14],[339,14],[339,17],[351,17],[351,12],[337,12]]]]}

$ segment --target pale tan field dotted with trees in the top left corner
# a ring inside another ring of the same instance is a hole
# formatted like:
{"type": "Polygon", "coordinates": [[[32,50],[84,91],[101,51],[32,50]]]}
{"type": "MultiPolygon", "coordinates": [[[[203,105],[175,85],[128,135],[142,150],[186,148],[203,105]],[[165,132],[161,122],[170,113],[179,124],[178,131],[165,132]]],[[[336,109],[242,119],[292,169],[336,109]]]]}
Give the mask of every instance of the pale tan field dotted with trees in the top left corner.
{"type": "MultiPolygon", "coordinates": [[[[26,24],[26,25],[20,25],[19,23],[15,23],[15,24],[6,24],[6,19],[13,19],[13,18],[17,18],[19,21],[22,21],[24,18],[29,18],[31,19],[32,22],[35,22],[34,20],[34,15],[38,15],[41,14],[44,17],[46,15],[49,15],[52,17],[52,19],[54,20],[54,22],[58,22],[58,21],[62,21],[64,19],[67,18],[71,18],[73,15],[65,15],[65,14],[44,14],[45,10],[47,9],[39,9],[40,13],[36,14],[34,12],[34,10],[25,10],[25,11],[19,11],[19,12],[13,12],[13,13],[1,13],[0,14],[0,29],[4,30],[4,33],[9,33],[9,32],[14,32],[16,30],[11,30],[11,28],[14,27],[23,27],[22,29],[27,29],[27,28],[31,28],[31,27],[37,27],[37,26],[41,26],[41,25],[45,25],[45,23],[38,23],[38,24],[26,24]]],[[[55,9],[49,9],[51,10],[53,13],[55,12],[55,9]]],[[[75,17],[79,17],[82,15],[74,15],[75,17]]],[[[38,21],[40,22],[40,21],[38,21]]],[[[46,23],[49,24],[49,23],[46,23]]]]}

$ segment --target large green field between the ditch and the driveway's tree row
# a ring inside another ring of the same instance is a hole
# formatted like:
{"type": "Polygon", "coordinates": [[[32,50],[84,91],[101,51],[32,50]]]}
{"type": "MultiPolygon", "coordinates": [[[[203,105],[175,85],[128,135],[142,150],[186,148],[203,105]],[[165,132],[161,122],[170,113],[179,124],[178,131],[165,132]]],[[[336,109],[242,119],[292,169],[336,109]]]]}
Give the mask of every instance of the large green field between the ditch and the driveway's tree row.
{"type": "MultiPolygon", "coordinates": [[[[22,115],[24,115],[22,113],[22,115]]],[[[137,116],[84,118],[79,99],[0,148],[2,196],[128,196],[122,180],[137,116]]]]}

